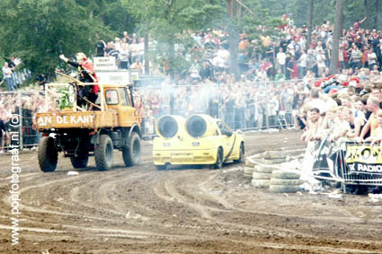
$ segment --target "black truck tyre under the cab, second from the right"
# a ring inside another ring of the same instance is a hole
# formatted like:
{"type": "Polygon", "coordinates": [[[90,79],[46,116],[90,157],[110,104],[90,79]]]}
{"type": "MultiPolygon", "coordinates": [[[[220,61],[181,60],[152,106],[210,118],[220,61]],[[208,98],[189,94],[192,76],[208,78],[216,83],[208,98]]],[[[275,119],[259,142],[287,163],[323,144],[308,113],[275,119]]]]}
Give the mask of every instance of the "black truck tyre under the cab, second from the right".
{"type": "Polygon", "coordinates": [[[112,158],[114,153],[111,137],[102,134],[100,136],[100,144],[94,149],[94,159],[97,168],[100,171],[107,171],[111,169],[112,158]]]}

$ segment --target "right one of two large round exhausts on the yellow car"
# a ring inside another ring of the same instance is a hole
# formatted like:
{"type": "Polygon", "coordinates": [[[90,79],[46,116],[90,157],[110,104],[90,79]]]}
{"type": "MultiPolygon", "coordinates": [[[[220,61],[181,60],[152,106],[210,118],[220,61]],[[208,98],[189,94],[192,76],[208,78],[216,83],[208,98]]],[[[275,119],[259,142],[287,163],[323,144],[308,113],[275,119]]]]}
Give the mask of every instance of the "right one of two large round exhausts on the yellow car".
{"type": "Polygon", "coordinates": [[[213,136],[216,133],[214,118],[209,115],[194,115],[187,118],[186,129],[192,137],[213,136]]]}

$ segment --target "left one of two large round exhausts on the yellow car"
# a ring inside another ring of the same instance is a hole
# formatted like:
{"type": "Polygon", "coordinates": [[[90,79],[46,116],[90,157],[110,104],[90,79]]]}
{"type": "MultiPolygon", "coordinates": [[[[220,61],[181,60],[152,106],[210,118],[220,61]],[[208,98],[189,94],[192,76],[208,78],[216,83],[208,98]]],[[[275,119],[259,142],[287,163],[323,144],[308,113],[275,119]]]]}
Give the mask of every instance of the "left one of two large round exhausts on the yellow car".
{"type": "Polygon", "coordinates": [[[156,133],[164,138],[172,138],[181,131],[184,121],[180,116],[163,116],[156,121],[156,133]]]}

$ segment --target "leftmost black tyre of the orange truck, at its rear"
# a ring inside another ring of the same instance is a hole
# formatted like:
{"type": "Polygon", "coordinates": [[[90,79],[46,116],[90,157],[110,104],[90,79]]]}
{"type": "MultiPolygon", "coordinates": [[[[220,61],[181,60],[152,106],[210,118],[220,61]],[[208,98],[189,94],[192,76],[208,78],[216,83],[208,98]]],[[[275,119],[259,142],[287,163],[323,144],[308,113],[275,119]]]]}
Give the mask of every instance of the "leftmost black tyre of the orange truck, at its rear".
{"type": "Polygon", "coordinates": [[[41,138],[38,157],[41,171],[52,172],[56,170],[58,151],[54,145],[53,137],[43,136],[41,138]]]}

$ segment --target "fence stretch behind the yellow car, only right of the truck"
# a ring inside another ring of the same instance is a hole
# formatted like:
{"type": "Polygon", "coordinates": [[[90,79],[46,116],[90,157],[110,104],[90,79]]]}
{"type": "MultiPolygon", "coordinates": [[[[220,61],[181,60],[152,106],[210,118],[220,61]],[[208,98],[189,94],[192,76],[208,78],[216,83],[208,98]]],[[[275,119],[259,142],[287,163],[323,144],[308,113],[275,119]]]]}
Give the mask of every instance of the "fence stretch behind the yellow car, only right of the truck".
{"type": "Polygon", "coordinates": [[[167,114],[208,114],[223,119],[232,129],[246,131],[295,127],[303,101],[294,100],[288,92],[273,92],[273,88],[299,82],[146,86],[135,91],[143,97],[147,136],[155,133],[155,120],[167,114]]]}

